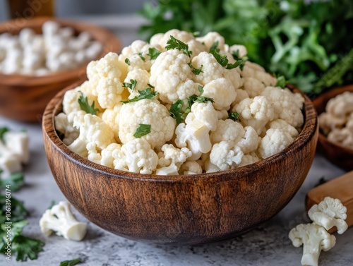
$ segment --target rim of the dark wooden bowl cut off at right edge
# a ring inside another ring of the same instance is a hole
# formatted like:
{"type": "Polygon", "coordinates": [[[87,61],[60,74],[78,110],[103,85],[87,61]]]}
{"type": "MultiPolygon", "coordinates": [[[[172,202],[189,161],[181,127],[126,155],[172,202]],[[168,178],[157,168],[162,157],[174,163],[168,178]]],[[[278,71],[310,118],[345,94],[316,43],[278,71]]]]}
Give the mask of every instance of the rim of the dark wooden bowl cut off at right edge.
{"type": "MultiPolygon", "coordinates": [[[[336,97],[337,95],[342,94],[343,92],[353,92],[353,84],[352,85],[345,85],[341,87],[335,87],[332,90],[328,90],[327,92],[324,92],[321,95],[318,95],[315,99],[313,99],[313,106],[316,109],[316,112],[318,113],[318,116],[323,113],[323,111],[318,111],[319,109],[323,109],[325,111],[326,104],[330,99],[333,97],[336,97]],[[325,102],[325,107],[320,106],[318,108],[320,100],[323,99],[323,102],[325,102]]],[[[319,127],[320,129],[320,127],[319,127]]],[[[337,150],[342,150],[347,154],[350,154],[353,156],[353,150],[349,149],[345,146],[342,146],[338,143],[334,143],[333,141],[329,140],[325,134],[321,132],[321,130],[318,131],[318,140],[321,141],[321,143],[329,143],[332,147],[335,147],[337,150]]]]}

